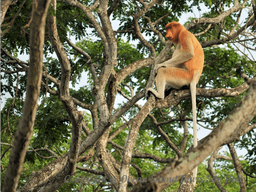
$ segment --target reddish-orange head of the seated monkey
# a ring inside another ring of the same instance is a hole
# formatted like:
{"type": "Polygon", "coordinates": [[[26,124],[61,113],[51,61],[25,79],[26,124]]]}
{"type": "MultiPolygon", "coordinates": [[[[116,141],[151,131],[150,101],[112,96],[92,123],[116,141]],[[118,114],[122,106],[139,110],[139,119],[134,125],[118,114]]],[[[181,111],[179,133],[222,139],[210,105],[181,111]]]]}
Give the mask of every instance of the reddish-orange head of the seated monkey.
{"type": "Polygon", "coordinates": [[[165,26],[165,37],[168,39],[169,42],[177,44],[179,40],[179,33],[183,28],[184,27],[179,22],[170,22],[165,26]]]}

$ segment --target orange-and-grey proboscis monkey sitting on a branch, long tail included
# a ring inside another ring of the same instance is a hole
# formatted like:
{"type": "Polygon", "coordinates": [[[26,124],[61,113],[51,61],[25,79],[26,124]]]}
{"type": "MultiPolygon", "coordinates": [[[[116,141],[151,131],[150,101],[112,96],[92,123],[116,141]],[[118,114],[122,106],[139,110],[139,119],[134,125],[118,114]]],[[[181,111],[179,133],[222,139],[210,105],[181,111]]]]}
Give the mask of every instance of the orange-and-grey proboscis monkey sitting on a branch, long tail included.
{"type": "MultiPolygon", "coordinates": [[[[165,26],[166,38],[176,46],[172,59],[156,65],[156,88],[149,88],[158,99],[164,99],[165,85],[175,89],[190,86],[193,111],[194,147],[197,146],[196,136],[196,84],[204,67],[204,51],[196,37],[184,28],[179,22],[170,22],[165,26]]],[[[197,167],[193,170],[196,177],[197,167]]],[[[196,180],[196,179],[195,179],[196,180]]],[[[195,186],[195,180],[193,185],[195,186]]]]}

